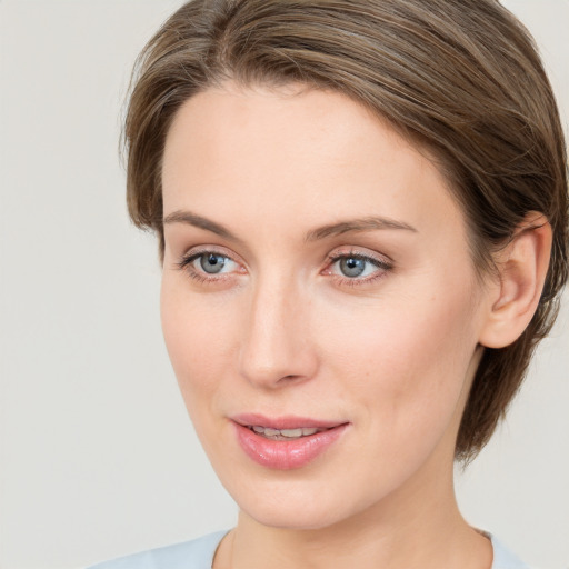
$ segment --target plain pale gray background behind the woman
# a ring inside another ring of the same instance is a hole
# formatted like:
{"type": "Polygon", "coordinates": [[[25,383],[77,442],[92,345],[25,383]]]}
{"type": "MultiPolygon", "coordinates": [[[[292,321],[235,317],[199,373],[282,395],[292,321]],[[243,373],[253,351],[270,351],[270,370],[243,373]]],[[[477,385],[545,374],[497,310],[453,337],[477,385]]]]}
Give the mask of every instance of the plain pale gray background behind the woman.
{"type": "MultiPolygon", "coordinates": [[[[567,126],[569,1],[505,3],[567,126]]],[[[134,57],[180,4],[0,2],[2,569],[78,568],[234,521],[166,356],[156,243],[129,224],[117,153],[134,57]]],[[[568,369],[566,302],[507,422],[458,476],[467,519],[536,568],[569,568],[568,369]]]]}

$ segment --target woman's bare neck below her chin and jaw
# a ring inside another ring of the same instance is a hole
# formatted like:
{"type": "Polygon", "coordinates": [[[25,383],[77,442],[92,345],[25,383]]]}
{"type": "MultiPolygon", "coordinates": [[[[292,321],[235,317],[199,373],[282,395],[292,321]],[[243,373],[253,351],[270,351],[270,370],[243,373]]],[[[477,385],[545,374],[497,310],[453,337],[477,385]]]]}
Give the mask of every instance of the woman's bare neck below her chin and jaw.
{"type": "Polygon", "coordinates": [[[325,528],[273,528],[241,512],[214,568],[490,569],[491,543],[462,519],[452,469],[446,471],[423,472],[380,503],[325,528]]]}

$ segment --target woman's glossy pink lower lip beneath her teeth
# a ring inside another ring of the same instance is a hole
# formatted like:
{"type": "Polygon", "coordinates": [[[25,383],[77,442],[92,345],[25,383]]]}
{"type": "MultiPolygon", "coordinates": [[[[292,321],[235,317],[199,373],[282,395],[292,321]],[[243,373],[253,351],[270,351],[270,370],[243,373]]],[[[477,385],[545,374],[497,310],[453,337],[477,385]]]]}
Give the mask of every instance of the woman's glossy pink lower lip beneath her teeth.
{"type": "Polygon", "coordinates": [[[345,423],[299,439],[271,440],[257,435],[248,427],[237,422],[233,425],[246,455],[259,465],[277,470],[291,470],[308,465],[329,449],[348,427],[345,423]]]}

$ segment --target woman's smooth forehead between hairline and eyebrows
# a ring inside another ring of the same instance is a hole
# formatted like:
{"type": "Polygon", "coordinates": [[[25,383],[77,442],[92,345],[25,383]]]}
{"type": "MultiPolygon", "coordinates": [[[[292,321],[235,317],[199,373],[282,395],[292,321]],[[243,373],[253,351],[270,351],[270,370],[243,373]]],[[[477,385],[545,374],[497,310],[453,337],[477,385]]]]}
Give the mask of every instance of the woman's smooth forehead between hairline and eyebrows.
{"type": "Polygon", "coordinates": [[[299,227],[382,214],[421,227],[453,219],[462,230],[426,152],[338,92],[231,83],[203,91],[172,122],[162,178],[166,214],[198,207],[229,221],[237,208],[243,219],[262,211],[299,227]]]}

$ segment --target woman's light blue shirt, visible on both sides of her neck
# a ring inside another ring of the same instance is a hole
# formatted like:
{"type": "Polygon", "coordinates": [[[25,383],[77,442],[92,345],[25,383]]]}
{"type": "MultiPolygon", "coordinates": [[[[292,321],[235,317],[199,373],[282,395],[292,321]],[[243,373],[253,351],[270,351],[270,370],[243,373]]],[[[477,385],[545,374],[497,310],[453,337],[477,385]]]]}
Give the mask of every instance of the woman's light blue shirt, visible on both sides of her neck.
{"type": "MultiPolygon", "coordinates": [[[[226,533],[218,531],[192,541],[121,557],[90,569],[211,569],[216,549],[226,533]]],[[[529,569],[492,536],[490,539],[493,547],[491,569],[529,569]]]]}

